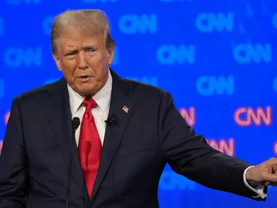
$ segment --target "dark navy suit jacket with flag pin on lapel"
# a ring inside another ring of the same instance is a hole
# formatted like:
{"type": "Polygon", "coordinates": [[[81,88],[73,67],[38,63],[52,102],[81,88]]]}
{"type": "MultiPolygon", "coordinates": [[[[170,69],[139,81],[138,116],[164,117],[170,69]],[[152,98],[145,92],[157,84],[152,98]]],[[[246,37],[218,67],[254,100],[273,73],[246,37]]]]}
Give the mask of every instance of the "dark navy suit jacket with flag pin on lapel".
{"type": "MultiPolygon", "coordinates": [[[[109,116],[117,117],[117,125],[107,125],[91,200],[74,145],[69,207],[159,207],[157,190],[166,163],[211,189],[255,196],[243,182],[251,164],[208,146],[168,92],[111,74],[109,116]]],[[[64,78],[17,96],[0,157],[0,208],[66,207],[72,137],[64,78]]]]}

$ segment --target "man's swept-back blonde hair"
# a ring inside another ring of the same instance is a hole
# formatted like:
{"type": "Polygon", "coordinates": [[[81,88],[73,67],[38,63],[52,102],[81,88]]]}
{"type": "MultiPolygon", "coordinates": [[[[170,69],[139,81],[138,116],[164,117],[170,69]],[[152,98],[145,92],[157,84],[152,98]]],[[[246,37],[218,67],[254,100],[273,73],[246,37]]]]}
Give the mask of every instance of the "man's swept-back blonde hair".
{"type": "Polygon", "coordinates": [[[92,35],[103,35],[107,49],[115,46],[115,42],[111,37],[109,19],[102,10],[67,10],[57,15],[51,28],[52,53],[57,52],[57,40],[65,29],[81,30],[92,35]]]}

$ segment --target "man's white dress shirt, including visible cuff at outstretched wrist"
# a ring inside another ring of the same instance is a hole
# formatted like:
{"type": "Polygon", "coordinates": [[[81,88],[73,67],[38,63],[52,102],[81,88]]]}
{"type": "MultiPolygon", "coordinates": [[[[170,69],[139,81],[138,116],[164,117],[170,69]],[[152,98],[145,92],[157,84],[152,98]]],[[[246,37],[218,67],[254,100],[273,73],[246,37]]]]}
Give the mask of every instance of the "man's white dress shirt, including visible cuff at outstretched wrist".
{"type": "MultiPolygon", "coordinates": [[[[111,84],[112,84],[112,78],[111,78],[111,73],[109,72],[109,79],[107,80],[107,83],[100,91],[93,96],[93,100],[96,101],[97,107],[93,108],[91,110],[94,121],[96,122],[96,128],[98,129],[98,134],[100,136],[101,144],[103,145],[104,137],[105,137],[105,130],[106,130],[106,123],[105,120],[107,119],[107,116],[109,114],[109,103],[111,100],[111,84]]],[[[72,119],[74,117],[78,117],[80,121],[82,122],[82,116],[84,114],[84,111],[86,108],[82,106],[82,101],[84,101],[84,97],[80,96],[77,92],[75,92],[69,85],[67,85],[69,89],[69,101],[70,101],[70,106],[71,106],[71,114],[72,114],[72,119]]],[[[76,139],[76,144],[78,146],[79,144],[79,136],[80,136],[80,125],[78,129],[75,132],[75,139],[76,139]]],[[[245,169],[244,174],[243,174],[243,180],[244,184],[251,189],[252,191],[255,191],[257,193],[257,196],[255,197],[261,197],[265,198],[267,197],[267,194],[263,193],[264,186],[258,186],[258,187],[251,187],[249,183],[246,180],[246,173],[249,168],[253,166],[248,167],[245,169]]]]}

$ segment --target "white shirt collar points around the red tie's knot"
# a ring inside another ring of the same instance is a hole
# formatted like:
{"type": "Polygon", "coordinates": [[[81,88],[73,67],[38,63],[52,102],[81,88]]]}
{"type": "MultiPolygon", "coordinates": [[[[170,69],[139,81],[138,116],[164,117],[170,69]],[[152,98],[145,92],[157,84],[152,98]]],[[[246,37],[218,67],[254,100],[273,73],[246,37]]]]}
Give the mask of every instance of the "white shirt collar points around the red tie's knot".
{"type": "MultiPolygon", "coordinates": [[[[100,91],[95,94],[92,98],[94,101],[96,101],[98,107],[100,107],[100,110],[102,112],[105,112],[105,114],[108,114],[109,112],[109,101],[111,98],[111,85],[112,85],[112,78],[111,78],[111,72],[109,71],[109,78],[107,80],[107,83],[100,89],[100,91]]],[[[74,115],[75,112],[79,109],[80,105],[82,104],[82,101],[84,101],[84,96],[80,96],[77,92],[75,92],[69,84],[67,84],[67,88],[69,90],[69,102],[71,106],[71,114],[74,115]]]]}

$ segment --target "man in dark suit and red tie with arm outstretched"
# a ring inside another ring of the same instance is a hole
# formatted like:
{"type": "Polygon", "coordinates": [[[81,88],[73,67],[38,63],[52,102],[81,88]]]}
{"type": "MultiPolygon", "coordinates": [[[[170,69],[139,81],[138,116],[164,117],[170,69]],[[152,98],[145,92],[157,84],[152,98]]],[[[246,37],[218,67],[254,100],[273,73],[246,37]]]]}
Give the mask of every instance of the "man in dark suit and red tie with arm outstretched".
{"type": "Polygon", "coordinates": [[[159,207],[167,162],[199,184],[253,200],[265,200],[267,185],[276,185],[277,159],[251,166],[214,150],[186,124],[168,92],[109,68],[115,43],[104,12],[57,16],[51,44],[64,78],[12,101],[0,208],[60,208],[67,199],[75,208],[159,207]]]}

